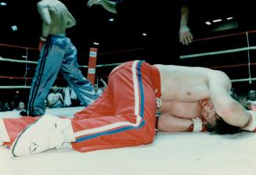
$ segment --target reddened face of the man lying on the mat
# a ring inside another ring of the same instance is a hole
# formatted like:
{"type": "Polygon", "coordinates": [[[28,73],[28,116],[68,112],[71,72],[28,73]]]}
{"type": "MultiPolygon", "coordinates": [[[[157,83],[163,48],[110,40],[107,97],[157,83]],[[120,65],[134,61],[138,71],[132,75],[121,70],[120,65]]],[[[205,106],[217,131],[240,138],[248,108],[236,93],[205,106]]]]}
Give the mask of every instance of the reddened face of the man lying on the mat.
{"type": "Polygon", "coordinates": [[[216,112],[211,100],[204,99],[200,101],[200,106],[202,107],[201,115],[204,117],[207,123],[215,123],[216,112]]]}

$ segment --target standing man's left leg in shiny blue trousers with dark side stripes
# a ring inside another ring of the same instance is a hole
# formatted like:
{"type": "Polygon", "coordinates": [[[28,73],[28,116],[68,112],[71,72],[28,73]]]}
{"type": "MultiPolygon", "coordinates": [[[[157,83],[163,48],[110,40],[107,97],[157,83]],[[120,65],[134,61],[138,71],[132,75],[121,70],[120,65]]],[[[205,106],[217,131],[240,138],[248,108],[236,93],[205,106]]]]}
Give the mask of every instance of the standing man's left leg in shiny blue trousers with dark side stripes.
{"type": "Polygon", "coordinates": [[[56,80],[61,62],[63,62],[63,40],[65,38],[62,35],[50,35],[41,50],[27,105],[30,116],[45,114],[45,98],[56,80]]]}

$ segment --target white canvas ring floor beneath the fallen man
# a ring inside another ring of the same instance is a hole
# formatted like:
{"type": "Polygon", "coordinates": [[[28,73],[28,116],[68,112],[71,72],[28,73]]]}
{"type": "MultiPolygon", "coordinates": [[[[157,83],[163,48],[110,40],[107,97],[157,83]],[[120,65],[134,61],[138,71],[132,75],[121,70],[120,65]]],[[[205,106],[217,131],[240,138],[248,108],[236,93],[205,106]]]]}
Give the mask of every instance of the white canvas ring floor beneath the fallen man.
{"type": "MultiPolygon", "coordinates": [[[[82,107],[48,110],[56,116],[72,116],[82,107]],[[65,113],[66,112],[66,113],[65,113]],[[73,113],[72,113],[73,112],[73,113]]],[[[15,112],[0,112],[0,118],[15,112]]],[[[95,152],[72,148],[13,157],[0,147],[3,175],[256,175],[256,133],[234,135],[158,132],[150,145],[95,152]]]]}

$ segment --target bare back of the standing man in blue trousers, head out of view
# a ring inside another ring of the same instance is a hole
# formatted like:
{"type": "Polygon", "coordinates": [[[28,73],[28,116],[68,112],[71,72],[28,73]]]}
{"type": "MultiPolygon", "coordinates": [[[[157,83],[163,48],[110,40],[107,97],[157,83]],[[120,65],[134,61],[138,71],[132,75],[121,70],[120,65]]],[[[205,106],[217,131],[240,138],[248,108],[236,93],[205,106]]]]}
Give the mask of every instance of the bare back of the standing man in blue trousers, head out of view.
{"type": "Polygon", "coordinates": [[[43,20],[43,37],[49,34],[65,34],[68,27],[76,24],[67,7],[58,0],[41,0],[38,2],[38,12],[43,20]]]}

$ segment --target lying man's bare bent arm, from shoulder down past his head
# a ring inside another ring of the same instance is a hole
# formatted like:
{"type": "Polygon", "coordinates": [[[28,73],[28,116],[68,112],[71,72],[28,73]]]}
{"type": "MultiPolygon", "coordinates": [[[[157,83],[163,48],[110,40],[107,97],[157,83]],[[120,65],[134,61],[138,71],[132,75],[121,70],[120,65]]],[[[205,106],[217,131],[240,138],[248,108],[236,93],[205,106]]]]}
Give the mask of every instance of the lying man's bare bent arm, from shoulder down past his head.
{"type": "Polygon", "coordinates": [[[209,77],[211,102],[218,116],[226,123],[243,128],[247,126],[250,115],[239,102],[229,95],[231,80],[221,71],[213,71],[209,77]]]}

